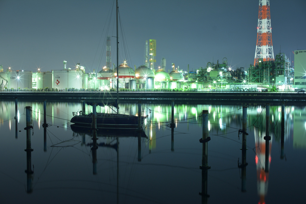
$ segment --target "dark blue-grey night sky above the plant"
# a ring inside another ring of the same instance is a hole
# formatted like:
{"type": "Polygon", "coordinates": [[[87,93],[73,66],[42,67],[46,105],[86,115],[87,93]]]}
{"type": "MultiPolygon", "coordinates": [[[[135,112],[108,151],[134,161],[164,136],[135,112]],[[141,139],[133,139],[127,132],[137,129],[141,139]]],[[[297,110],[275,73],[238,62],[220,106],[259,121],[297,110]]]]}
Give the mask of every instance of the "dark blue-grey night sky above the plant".
{"type": "MultiPolygon", "coordinates": [[[[4,71],[63,69],[63,60],[72,69],[80,63],[86,72],[101,70],[106,35],[116,36],[113,1],[0,0],[4,71]]],[[[118,5],[124,30],[119,63],[126,58],[132,68],[144,64],[149,39],[156,39],[156,65],[165,57],[166,71],[171,63],[184,71],[189,64],[191,71],[223,57],[233,69],[254,62],[259,0],[119,0],[118,5]]],[[[306,49],[305,8],[305,0],[270,0],[274,56],[281,50],[293,61],[292,51],[306,49]]],[[[115,37],[111,45],[116,64],[115,37]]]]}

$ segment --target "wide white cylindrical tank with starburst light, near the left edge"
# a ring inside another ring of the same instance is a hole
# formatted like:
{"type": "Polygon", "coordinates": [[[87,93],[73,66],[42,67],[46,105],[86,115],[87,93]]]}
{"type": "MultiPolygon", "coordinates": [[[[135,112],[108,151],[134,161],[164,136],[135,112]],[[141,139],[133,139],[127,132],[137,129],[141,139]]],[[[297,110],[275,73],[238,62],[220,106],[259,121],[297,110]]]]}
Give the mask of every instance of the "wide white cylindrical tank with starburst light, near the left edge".
{"type": "Polygon", "coordinates": [[[7,70],[8,88],[32,89],[32,71],[7,70]]]}

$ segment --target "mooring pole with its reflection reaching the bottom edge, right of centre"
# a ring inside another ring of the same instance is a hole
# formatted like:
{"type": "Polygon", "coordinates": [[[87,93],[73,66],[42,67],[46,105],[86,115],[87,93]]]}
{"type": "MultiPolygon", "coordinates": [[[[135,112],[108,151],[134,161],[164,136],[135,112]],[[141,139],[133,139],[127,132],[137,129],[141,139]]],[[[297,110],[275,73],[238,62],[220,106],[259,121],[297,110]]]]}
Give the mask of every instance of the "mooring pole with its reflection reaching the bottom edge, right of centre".
{"type": "Polygon", "coordinates": [[[200,139],[200,143],[202,143],[202,165],[200,165],[200,169],[202,170],[202,191],[199,193],[202,196],[202,203],[207,203],[209,198],[207,194],[207,170],[211,166],[207,165],[207,142],[210,140],[211,138],[208,136],[208,110],[203,110],[202,138],[200,139]]]}

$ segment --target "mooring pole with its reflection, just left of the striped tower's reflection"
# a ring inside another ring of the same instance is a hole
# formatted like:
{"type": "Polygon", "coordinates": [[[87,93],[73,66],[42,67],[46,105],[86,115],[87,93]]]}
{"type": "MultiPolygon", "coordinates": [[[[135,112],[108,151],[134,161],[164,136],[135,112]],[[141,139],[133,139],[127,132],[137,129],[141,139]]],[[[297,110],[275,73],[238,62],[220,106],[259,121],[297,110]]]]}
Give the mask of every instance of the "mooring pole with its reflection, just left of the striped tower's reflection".
{"type": "Polygon", "coordinates": [[[246,191],[246,166],[248,165],[247,158],[247,108],[248,106],[242,106],[242,162],[241,162],[241,191],[246,191]]]}

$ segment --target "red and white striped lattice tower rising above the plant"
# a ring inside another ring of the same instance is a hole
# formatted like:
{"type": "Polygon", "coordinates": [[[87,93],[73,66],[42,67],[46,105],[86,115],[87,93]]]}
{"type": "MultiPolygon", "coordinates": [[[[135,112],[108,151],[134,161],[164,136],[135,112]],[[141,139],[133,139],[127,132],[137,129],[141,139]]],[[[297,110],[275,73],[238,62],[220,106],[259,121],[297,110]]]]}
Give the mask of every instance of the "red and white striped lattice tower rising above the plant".
{"type": "Polygon", "coordinates": [[[259,0],[254,66],[258,63],[258,59],[263,59],[263,61],[274,60],[269,0],[259,0]]]}

